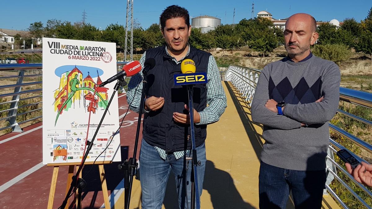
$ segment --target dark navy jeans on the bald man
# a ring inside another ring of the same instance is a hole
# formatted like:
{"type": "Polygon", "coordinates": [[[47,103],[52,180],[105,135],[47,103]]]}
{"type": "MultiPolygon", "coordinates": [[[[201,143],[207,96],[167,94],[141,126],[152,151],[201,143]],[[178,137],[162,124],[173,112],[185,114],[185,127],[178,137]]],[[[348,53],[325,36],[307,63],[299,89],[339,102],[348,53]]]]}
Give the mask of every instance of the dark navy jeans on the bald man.
{"type": "Polygon", "coordinates": [[[261,161],[260,209],[285,208],[291,190],[296,209],[319,209],[322,206],[325,180],[325,170],[289,170],[261,161]]]}

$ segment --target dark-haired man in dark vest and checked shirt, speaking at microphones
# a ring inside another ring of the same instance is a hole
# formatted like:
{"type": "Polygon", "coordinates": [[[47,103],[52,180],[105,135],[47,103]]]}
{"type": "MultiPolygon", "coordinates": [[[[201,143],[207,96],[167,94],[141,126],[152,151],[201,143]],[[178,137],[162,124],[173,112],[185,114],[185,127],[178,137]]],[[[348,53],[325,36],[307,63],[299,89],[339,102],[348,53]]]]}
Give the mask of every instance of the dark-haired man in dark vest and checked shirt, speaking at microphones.
{"type": "MultiPolygon", "coordinates": [[[[194,90],[195,145],[199,194],[202,193],[206,163],[206,125],[219,120],[227,102],[214,57],[188,44],[191,34],[189,12],[176,5],[167,7],[160,16],[161,32],[166,45],[148,49],[140,59],[155,59],[155,67],[148,71],[145,90],[143,139],[140,151],[142,208],[161,208],[170,171],[176,179],[179,207],[190,208],[191,132],[187,111],[187,91],[175,86],[174,74],[181,73],[181,62],[188,58],[196,65],[196,72],[206,72],[208,84],[196,84],[194,90]],[[208,107],[207,107],[208,104],[208,107]]],[[[142,74],[131,78],[127,101],[130,109],[139,112],[142,74]],[[133,101],[133,102],[132,102],[133,101]]]]}

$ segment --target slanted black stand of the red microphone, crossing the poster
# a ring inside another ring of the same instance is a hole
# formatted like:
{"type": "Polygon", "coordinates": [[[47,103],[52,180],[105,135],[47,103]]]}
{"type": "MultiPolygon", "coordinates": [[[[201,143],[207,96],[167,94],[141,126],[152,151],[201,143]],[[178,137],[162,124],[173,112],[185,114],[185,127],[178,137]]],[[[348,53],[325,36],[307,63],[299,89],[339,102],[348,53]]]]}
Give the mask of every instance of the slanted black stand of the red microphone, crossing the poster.
{"type": "Polygon", "coordinates": [[[107,104],[107,107],[106,107],[106,109],[105,109],[105,112],[103,112],[102,118],[101,118],[101,120],[100,120],[100,122],[99,122],[99,124],[98,124],[98,127],[97,127],[97,129],[96,129],[96,132],[95,132],[94,135],[93,135],[92,141],[88,141],[88,139],[87,139],[87,145],[88,145],[88,148],[87,148],[87,150],[86,150],[86,152],[85,152],[85,155],[84,155],[84,157],[83,157],[83,161],[82,161],[82,163],[81,163],[81,166],[80,166],[79,169],[76,171],[75,176],[72,177],[72,182],[71,182],[71,185],[70,185],[70,189],[68,189],[68,192],[67,192],[67,194],[66,194],[66,197],[65,197],[65,199],[63,200],[62,205],[60,206],[61,209],[64,209],[64,208],[66,207],[66,205],[67,205],[67,201],[68,201],[68,199],[70,198],[71,192],[72,192],[72,190],[74,189],[74,187],[77,187],[77,189],[78,189],[78,203],[77,203],[77,209],[81,209],[81,193],[82,193],[82,190],[86,187],[86,184],[87,184],[87,183],[86,183],[86,181],[85,181],[84,179],[81,179],[81,178],[79,178],[78,176],[79,176],[81,170],[82,170],[83,167],[84,167],[84,163],[85,163],[85,161],[87,160],[87,157],[88,157],[88,155],[89,155],[90,150],[91,150],[92,147],[93,147],[93,141],[94,141],[94,139],[96,138],[96,136],[97,136],[97,134],[98,134],[99,128],[100,128],[101,125],[102,125],[102,122],[103,122],[103,119],[104,119],[105,116],[106,116],[106,113],[107,113],[108,110],[109,110],[109,107],[110,107],[110,104],[111,104],[111,102],[112,102],[112,99],[114,98],[114,96],[115,96],[115,94],[116,94],[116,91],[118,91],[119,87],[120,87],[121,85],[123,85],[123,84],[124,84],[124,86],[126,85],[126,82],[125,82],[125,80],[124,80],[124,75],[123,75],[122,77],[120,77],[120,78],[119,78],[119,82],[115,84],[114,92],[112,93],[112,96],[111,96],[111,98],[110,98],[110,100],[109,100],[109,103],[107,104]]]}

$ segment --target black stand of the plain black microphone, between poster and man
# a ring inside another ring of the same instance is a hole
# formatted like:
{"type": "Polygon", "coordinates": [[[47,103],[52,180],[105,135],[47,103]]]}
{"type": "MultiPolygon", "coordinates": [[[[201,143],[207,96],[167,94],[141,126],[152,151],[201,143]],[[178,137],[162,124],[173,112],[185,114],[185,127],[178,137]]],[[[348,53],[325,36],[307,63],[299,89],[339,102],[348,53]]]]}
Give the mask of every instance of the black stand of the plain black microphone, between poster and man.
{"type": "MultiPolygon", "coordinates": [[[[146,68],[146,67],[145,67],[146,68]]],[[[147,87],[147,69],[142,71],[143,74],[143,86],[142,86],[142,92],[141,92],[141,99],[140,99],[140,112],[138,113],[138,122],[137,122],[137,132],[136,132],[136,138],[134,142],[134,151],[133,151],[133,157],[126,159],[123,164],[119,164],[118,168],[119,170],[124,170],[124,208],[129,209],[129,204],[131,201],[131,193],[132,193],[132,185],[133,185],[133,176],[136,176],[135,178],[138,179],[137,176],[137,147],[138,147],[138,138],[140,137],[140,128],[141,128],[141,118],[142,118],[142,109],[143,109],[143,102],[145,97],[145,90],[147,87]]]]}

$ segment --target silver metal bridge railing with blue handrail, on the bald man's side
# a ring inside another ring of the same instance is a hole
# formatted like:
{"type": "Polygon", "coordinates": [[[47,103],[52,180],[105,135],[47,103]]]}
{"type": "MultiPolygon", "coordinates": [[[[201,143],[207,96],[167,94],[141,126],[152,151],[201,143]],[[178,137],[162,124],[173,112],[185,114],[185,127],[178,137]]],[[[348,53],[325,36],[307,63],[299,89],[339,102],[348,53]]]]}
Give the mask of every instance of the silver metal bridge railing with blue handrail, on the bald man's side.
{"type": "MultiPolygon", "coordinates": [[[[254,96],[254,91],[256,89],[257,81],[259,74],[261,73],[260,70],[249,68],[249,67],[242,67],[238,65],[230,65],[228,69],[225,71],[226,81],[229,81],[231,84],[235,86],[237,91],[241,94],[243,99],[249,103],[251,106],[251,101],[254,96]]],[[[340,101],[348,102],[353,105],[363,106],[369,109],[372,109],[372,94],[366,93],[363,91],[357,91],[353,89],[347,89],[340,87],[340,101]]],[[[345,115],[349,118],[355,119],[359,122],[362,122],[366,125],[372,126],[372,122],[366,120],[364,118],[360,118],[359,116],[353,115],[351,113],[345,112],[343,110],[338,109],[337,113],[345,115]]],[[[349,132],[344,131],[340,127],[329,123],[330,130],[334,131],[336,134],[343,136],[344,138],[348,139],[353,144],[365,149],[367,152],[372,154],[372,145],[363,141],[362,139],[358,138],[355,135],[350,134],[349,132]]],[[[330,137],[330,145],[328,150],[327,156],[327,182],[325,185],[326,190],[330,193],[337,202],[343,208],[348,208],[346,203],[337,196],[337,194],[329,187],[329,184],[333,179],[339,181],[362,205],[366,208],[371,209],[371,206],[368,205],[365,200],[363,200],[349,185],[345,183],[338,175],[337,171],[339,170],[341,173],[345,174],[349,179],[351,179],[358,187],[360,187],[369,198],[372,198],[372,193],[368,190],[365,186],[358,183],[354,178],[343,168],[343,165],[336,163],[334,160],[334,153],[340,149],[346,149],[339,143],[337,143],[334,139],[330,137]]],[[[360,156],[356,155],[355,153],[351,152],[355,158],[359,161],[364,161],[360,156]]],[[[367,163],[367,162],[366,162],[367,163]]]]}

